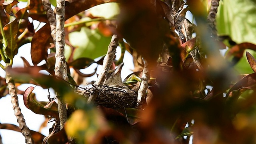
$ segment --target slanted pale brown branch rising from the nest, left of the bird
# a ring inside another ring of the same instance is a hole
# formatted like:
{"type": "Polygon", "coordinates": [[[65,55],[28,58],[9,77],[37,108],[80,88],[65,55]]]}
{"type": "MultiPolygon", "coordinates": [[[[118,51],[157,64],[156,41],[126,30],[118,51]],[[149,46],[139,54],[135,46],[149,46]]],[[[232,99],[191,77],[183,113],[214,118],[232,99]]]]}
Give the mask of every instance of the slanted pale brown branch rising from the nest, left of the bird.
{"type": "MultiPolygon", "coordinates": [[[[113,59],[114,56],[116,54],[116,48],[119,45],[119,38],[116,35],[113,35],[111,38],[111,42],[108,46],[108,52],[107,55],[105,56],[104,60],[103,60],[103,64],[102,64],[102,69],[100,72],[100,75],[97,79],[97,81],[94,83],[95,85],[104,85],[104,82],[106,80],[106,76],[108,74],[108,70],[110,68],[110,66],[113,63],[113,59]]],[[[93,94],[92,96],[90,96],[88,98],[88,103],[92,102],[92,100],[94,100],[95,94],[93,94]]]]}

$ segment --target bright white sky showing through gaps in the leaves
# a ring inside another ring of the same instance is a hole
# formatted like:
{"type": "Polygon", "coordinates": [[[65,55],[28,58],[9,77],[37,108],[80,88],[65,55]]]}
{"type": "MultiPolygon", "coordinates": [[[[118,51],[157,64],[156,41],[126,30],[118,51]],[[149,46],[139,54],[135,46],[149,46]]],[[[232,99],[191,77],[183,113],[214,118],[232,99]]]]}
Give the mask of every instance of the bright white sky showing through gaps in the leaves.
{"type": "MultiPolygon", "coordinates": [[[[19,6],[25,7],[26,3],[20,2],[19,6]]],[[[187,14],[190,15],[190,16],[188,16],[188,19],[190,21],[192,21],[190,12],[187,12],[187,14]]],[[[34,24],[35,27],[37,25],[38,24],[34,24]]],[[[18,54],[14,57],[13,67],[23,67],[24,66],[23,61],[20,58],[20,56],[23,56],[32,65],[32,60],[30,57],[30,47],[31,47],[31,44],[25,44],[24,46],[19,48],[18,54]]],[[[117,58],[120,57],[120,48],[117,49],[116,56],[117,56],[117,58]]],[[[3,61],[1,63],[4,64],[3,61]]],[[[91,68],[82,70],[82,72],[86,72],[87,74],[92,73],[94,71],[94,68],[96,67],[96,65],[97,64],[92,64],[92,66],[90,66],[91,68]]],[[[100,68],[101,68],[101,66],[98,67],[97,73],[100,72],[100,68]]],[[[122,73],[121,73],[122,79],[126,78],[126,76],[131,74],[133,68],[134,68],[134,65],[133,65],[133,61],[132,61],[132,56],[128,52],[126,52],[124,54],[124,67],[122,68],[122,73]]],[[[2,69],[0,69],[0,76],[5,77],[5,72],[2,69]]],[[[94,76],[88,78],[87,81],[90,82],[91,80],[96,80],[96,78],[97,78],[97,76],[94,75],[94,76]]],[[[26,90],[26,88],[28,88],[29,86],[34,86],[34,85],[22,84],[18,88],[20,90],[26,90]]],[[[34,89],[33,92],[36,93],[37,100],[48,101],[48,99],[47,99],[48,90],[47,89],[43,89],[40,86],[36,86],[36,88],[34,89]]],[[[51,95],[51,98],[56,96],[54,94],[53,90],[50,90],[50,95],[51,95]]],[[[32,112],[31,110],[26,108],[23,103],[22,95],[18,95],[18,100],[19,100],[19,105],[20,105],[22,114],[24,115],[24,119],[26,120],[27,126],[30,128],[30,130],[38,131],[40,128],[40,125],[45,120],[44,116],[35,114],[34,112],[32,112]]],[[[18,126],[16,116],[14,115],[14,110],[12,109],[10,95],[7,95],[0,99],[0,122],[2,124],[8,123],[8,124],[15,124],[16,126],[18,126]]],[[[48,130],[50,127],[52,127],[53,123],[54,122],[49,123],[48,126],[46,128],[44,128],[41,133],[44,134],[45,136],[47,136],[48,130]]],[[[24,136],[22,136],[22,134],[20,132],[15,132],[12,130],[0,130],[0,135],[2,136],[3,144],[25,144],[24,136]]]]}

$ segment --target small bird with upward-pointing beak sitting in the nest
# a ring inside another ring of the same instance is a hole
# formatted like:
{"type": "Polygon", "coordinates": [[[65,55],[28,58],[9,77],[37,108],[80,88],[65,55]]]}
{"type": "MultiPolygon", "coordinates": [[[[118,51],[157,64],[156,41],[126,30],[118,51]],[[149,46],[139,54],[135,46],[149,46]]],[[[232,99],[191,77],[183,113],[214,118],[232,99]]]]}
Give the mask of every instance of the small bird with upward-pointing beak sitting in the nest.
{"type": "Polygon", "coordinates": [[[111,87],[125,86],[121,78],[121,70],[123,66],[124,66],[124,63],[122,62],[117,66],[116,69],[108,71],[108,76],[105,82],[107,86],[111,86],[111,87]]]}

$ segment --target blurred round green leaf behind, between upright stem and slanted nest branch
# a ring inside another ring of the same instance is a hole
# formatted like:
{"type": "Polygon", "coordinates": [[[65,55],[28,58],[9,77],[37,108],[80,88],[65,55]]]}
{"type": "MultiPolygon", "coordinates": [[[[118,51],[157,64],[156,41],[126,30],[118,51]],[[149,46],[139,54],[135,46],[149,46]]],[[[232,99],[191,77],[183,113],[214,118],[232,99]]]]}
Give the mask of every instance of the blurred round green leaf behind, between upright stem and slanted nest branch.
{"type": "Polygon", "coordinates": [[[83,27],[80,32],[70,33],[69,40],[76,48],[74,60],[83,57],[95,59],[106,54],[111,37],[103,36],[97,29],[83,27]]]}

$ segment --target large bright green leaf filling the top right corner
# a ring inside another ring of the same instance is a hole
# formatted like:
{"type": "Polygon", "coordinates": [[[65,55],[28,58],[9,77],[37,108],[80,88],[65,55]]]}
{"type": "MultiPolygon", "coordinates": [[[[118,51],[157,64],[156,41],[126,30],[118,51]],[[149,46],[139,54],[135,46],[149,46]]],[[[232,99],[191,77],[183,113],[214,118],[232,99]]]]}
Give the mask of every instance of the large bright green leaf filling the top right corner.
{"type": "Polygon", "coordinates": [[[237,43],[256,44],[256,1],[220,1],[216,17],[218,34],[229,35],[237,43]]]}

